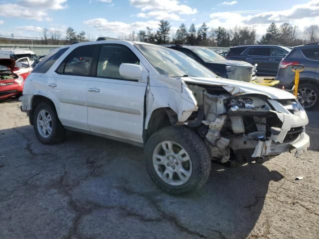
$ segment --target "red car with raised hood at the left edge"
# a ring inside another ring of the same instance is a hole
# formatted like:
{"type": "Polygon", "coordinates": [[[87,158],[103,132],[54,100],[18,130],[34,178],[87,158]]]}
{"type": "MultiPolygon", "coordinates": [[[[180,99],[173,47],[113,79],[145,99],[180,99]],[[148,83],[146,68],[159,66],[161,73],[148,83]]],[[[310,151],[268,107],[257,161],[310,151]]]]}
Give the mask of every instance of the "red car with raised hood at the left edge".
{"type": "Polygon", "coordinates": [[[24,79],[16,71],[19,68],[15,67],[14,59],[0,59],[0,100],[22,95],[24,79]]]}

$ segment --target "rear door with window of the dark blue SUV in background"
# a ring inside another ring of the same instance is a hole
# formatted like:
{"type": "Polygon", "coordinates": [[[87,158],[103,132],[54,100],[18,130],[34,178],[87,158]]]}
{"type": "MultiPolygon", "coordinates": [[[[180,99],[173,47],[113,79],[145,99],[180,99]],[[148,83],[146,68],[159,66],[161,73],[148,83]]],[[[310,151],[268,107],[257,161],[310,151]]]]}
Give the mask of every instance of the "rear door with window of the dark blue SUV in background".
{"type": "Polygon", "coordinates": [[[269,57],[269,47],[252,47],[249,49],[245,61],[252,65],[258,64],[257,74],[267,76],[270,74],[268,66],[269,57]]]}

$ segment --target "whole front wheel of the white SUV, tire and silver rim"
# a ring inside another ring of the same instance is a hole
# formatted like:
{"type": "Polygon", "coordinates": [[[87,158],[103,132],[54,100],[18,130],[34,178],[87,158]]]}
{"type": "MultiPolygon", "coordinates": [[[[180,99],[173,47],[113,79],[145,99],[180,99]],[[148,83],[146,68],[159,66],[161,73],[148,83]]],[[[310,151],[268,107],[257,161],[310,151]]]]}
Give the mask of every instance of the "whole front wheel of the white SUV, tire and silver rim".
{"type": "Polygon", "coordinates": [[[198,190],[210,174],[211,158],[207,145],[186,127],[169,126],[155,132],[145,146],[144,157],[150,178],[167,193],[184,194],[198,190]],[[172,150],[169,150],[169,142],[172,150]]]}

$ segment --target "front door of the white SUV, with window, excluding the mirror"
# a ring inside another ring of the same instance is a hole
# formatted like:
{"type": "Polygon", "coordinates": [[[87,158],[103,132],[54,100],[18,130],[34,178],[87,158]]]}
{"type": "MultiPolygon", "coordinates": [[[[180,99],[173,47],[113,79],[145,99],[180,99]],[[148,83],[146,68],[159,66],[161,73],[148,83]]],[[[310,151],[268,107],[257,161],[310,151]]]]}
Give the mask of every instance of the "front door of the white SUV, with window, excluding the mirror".
{"type": "Polygon", "coordinates": [[[147,74],[144,68],[144,80],[124,79],[122,63],[140,60],[124,45],[101,45],[96,77],[88,82],[88,124],[92,132],[142,143],[147,74]]]}

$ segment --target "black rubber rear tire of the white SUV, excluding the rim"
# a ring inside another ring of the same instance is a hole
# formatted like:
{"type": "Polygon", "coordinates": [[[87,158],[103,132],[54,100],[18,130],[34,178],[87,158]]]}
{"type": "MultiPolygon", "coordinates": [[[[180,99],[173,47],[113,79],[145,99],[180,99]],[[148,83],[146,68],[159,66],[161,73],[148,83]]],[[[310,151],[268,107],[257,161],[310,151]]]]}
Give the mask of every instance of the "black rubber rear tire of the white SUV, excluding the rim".
{"type": "Polygon", "coordinates": [[[66,132],[66,130],[64,129],[63,125],[61,124],[56,114],[54,106],[47,102],[40,103],[39,105],[36,106],[33,113],[33,129],[38,140],[44,144],[61,143],[64,140],[64,136],[66,132]],[[52,131],[48,137],[41,136],[37,127],[37,117],[42,110],[45,110],[50,114],[51,121],[52,121],[51,123],[52,131]]]}

